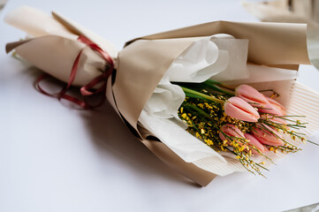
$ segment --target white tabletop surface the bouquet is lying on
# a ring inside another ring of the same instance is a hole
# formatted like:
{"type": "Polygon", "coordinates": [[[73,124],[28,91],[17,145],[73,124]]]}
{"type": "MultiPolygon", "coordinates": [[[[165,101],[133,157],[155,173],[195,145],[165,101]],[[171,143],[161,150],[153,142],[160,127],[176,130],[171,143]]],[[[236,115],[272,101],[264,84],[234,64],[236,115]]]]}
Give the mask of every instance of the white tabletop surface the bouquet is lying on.
{"type": "MultiPolygon", "coordinates": [[[[162,163],[108,104],[72,110],[34,89],[41,73],[6,55],[24,37],[4,24],[19,5],[59,11],[113,42],[218,19],[258,21],[239,1],[22,1],[0,11],[0,211],[282,211],[319,201],[319,148],[307,144],[268,178],[217,177],[200,188],[162,163]]],[[[319,72],[300,82],[319,91],[319,72]]],[[[319,142],[319,133],[312,138],[319,142]]]]}

